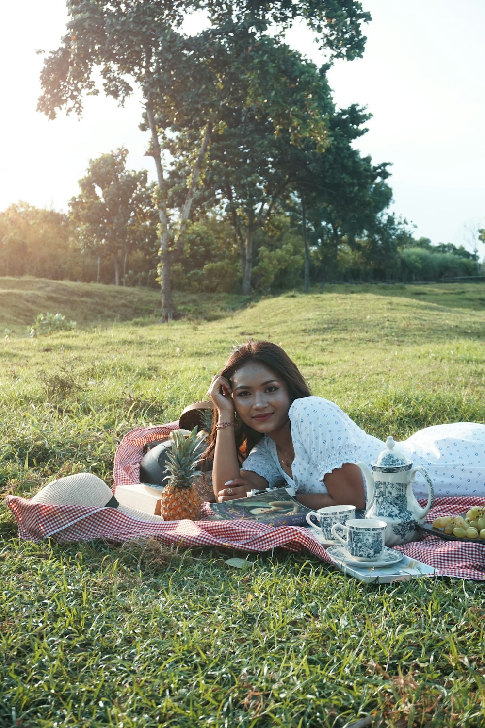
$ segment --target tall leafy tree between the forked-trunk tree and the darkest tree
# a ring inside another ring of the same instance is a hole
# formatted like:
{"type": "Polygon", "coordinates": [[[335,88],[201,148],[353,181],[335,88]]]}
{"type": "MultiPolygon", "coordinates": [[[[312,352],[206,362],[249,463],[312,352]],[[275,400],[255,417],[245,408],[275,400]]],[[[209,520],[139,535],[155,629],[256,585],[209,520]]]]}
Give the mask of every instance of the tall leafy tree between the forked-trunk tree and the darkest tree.
{"type": "Polygon", "coordinates": [[[223,128],[212,141],[203,180],[236,233],[244,295],[252,282],[254,234],[268,226],[291,191],[296,152],[304,145],[316,154],[326,148],[331,106],[326,78],[313,63],[269,38],[258,41],[257,53],[264,55],[264,72],[261,61],[248,54],[239,76],[248,74],[250,83],[240,80],[237,93],[226,97],[223,128]]]}

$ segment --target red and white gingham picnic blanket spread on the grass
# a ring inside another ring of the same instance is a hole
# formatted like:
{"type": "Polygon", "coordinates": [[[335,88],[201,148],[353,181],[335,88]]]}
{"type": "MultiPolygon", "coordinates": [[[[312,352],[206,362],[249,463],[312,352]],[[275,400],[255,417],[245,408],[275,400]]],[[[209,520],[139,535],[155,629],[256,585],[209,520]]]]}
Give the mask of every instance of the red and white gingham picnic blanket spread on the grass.
{"type": "MultiPolygon", "coordinates": [[[[129,432],[116,451],[115,487],[139,482],[143,446],[151,440],[167,437],[177,427],[177,422],[171,422],[160,427],[138,427],[129,432]]],[[[59,542],[76,542],[104,538],[124,542],[137,537],[154,537],[165,545],[224,547],[244,553],[281,547],[295,553],[308,551],[321,561],[333,563],[313,536],[312,529],[300,526],[274,528],[255,521],[207,520],[143,523],[113,508],[41,505],[18,496],[7,496],[6,500],[17,521],[21,539],[40,541],[52,537],[59,542]]],[[[440,515],[463,513],[473,505],[485,505],[485,497],[437,498],[426,521],[430,523],[440,515]]],[[[209,506],[204,504],[203,517],[208,513],[209,506]]],[[[485,580],[485,545],[426,536],[422,541],[396,546],[396,549],[433,566],[437,576],[485,580]]]]}

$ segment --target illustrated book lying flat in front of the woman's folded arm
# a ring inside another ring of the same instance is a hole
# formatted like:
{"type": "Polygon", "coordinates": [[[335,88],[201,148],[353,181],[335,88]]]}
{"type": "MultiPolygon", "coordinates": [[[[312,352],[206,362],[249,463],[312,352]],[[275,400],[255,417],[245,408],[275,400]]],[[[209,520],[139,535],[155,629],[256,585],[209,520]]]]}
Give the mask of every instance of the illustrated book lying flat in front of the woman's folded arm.
{"type": "Polygon", "coordinates": [[[286,488],[273,488],[249,498],[223,503],[210,503],[216,521],[258,521],[270,526],[308,526],[306,514],[311,512],[286,492],[286,488]]]}

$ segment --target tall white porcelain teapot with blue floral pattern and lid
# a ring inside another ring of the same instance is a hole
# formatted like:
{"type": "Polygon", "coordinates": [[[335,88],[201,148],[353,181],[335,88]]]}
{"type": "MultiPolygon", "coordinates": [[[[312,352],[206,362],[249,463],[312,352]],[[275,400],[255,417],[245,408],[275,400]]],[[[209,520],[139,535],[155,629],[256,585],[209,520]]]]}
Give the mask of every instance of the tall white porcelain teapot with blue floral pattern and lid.
{"type": "Polygon", "coordinates": [[[372,472],[364,462],[356,463],[364,473],[367,488],[366,518],[385,521],[385,545],[396,546],[417,539],[418,523],[424,523],[425,515],[433,505],[433,484],[422,467],[412,467],[411,460],[394,452],[393,438],[385,441],[386,449],[371,463],[372,472]],[[428,503],[420,507],[412,483],[420,472],[428,484],[428,503]]]}

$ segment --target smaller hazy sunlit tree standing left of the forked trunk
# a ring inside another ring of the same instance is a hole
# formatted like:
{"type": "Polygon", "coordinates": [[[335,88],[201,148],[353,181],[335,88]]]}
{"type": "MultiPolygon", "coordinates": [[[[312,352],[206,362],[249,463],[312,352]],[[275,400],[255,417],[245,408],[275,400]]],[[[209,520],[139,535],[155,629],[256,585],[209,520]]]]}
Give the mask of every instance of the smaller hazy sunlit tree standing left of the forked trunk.
{"type": "Polygon", "coordinates": [[[156,242],[153,186],[145,170],[126,170],[127,154],[122,148],[90,159],[87,175],[79,180],[81,194],[69,203],[81,250],[113,261],[115,285],[121,280],[125,285],[129,252],[156,242]]]}

